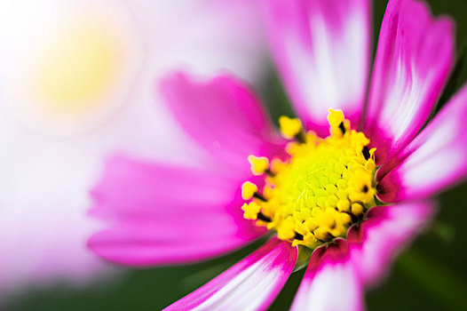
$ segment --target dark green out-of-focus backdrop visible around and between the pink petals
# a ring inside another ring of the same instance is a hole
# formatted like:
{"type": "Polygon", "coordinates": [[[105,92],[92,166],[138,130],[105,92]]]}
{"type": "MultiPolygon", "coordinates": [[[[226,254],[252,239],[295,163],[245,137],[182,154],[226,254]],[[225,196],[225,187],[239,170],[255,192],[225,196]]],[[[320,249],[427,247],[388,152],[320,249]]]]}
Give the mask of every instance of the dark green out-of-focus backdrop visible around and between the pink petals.
{"type": "MultiPolygon", "coordinates": [[[[451,15],[457,43],[467,38],[467,1],[431,0],[433,12],[451,15]]],[[[375,38],[386,1],[376,1],[375,38]]],[[[376,42],[376,39],[375,39],[376,42]]],[[[462,68],[455,88],[465,81],[462,68]]],[[[281,84],[271,75],[260,88],[273,119],[292,114],[281,84]]],[[[454,90],[453,90],[454,91],[454,90]]],[[[467,310],[467,184],[440,195],[441,208],[431,227],[394,263],[384,283],[368,291],[369,310],[467,310]]],[[[70,289],[55,286],[30,291],[12,299],[11,310],[158,310],[193,291],[257,249],[261,241],[224,258],[186,267],[124,269],[112,283],[70,289]]],[[[271,310],[287,310],[305,271],[293,274],[271,310]]],[[[336,292],[338,299],[339,292],[336,292]]]]}

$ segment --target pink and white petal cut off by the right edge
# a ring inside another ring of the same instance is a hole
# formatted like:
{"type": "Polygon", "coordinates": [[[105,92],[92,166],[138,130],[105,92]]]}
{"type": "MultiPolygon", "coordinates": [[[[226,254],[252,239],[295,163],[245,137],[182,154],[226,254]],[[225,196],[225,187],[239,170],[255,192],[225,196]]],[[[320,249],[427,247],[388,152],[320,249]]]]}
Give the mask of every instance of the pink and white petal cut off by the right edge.
{"type": "Polygon", "coordinates": [[[466,119],[467,85],[405,148],[399,165],[380,177],[380,198],[386,202],[422,198],[465,179],[466,119]]]}

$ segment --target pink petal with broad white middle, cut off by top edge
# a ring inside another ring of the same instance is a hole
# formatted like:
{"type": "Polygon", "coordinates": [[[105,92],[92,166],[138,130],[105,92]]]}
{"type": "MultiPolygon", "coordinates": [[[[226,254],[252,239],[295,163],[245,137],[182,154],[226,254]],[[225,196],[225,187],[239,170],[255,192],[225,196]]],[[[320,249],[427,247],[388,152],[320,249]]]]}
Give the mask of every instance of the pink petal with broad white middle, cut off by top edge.
{"type": "Polygon", "coordinates": [[[265,1],[273,58],[305,125],[328,134],[328,108],[359,126],[370,60],[368,0],[265,1]]]}

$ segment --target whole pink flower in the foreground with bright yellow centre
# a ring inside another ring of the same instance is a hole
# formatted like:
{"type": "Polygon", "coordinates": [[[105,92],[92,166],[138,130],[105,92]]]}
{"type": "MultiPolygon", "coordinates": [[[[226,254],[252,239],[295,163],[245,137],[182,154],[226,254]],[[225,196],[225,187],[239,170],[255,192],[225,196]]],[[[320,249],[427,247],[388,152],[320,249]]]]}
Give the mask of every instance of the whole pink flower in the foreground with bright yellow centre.
{"type": "Polygon", "coordinates": [[[265,309],[306,251],[292,309],[362,309],[364,287],[431,219],[429,197],[467,173],[467,87],[423,128],[453,67],[452,22],[422,2],[390,1],[365,104],[369,12],[366,0],[265,2],[299,116],[279,120],[287,140],[230,76],[164,79],[170,110],[205,151],[200,165],[112,157],[91,211],[108,227],[91,249],[125,265],[177,264],[270,232],[262,248],[167,309],[265,309]]]}

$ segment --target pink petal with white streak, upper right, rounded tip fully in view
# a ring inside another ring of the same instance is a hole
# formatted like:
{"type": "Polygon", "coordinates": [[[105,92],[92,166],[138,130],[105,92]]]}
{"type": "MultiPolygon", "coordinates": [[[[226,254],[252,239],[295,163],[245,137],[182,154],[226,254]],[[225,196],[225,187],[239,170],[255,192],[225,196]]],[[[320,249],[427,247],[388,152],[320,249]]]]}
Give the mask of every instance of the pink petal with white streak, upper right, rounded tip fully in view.
{"type": "Polygon", "coordinates": [[[452,20],[433,18],[421,1],[389,2],[365,120],[379,163],[404,148],[430,116],[453,67],[454,32],[452,20]]]}

